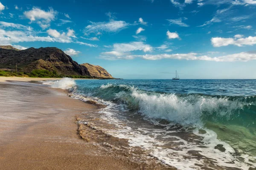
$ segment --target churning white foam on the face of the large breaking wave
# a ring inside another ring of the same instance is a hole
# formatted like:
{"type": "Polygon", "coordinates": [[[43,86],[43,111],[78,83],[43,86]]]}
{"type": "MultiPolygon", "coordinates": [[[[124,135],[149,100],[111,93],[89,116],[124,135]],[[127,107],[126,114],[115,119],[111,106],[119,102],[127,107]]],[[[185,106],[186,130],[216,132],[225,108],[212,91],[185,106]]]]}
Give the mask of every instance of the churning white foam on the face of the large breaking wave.
{"type": "Polygon", "coordinates": [[[203,127],[205,122],[201,116],[204,114],[209,117],[223,117],[228,120],[235,110],[242,109],[244,106],[242,102],[229,100],[227,97],[148,94],[134,87],[129,89],[131,94],[127,91],[120,91],[116,94],[115,99],[119,99],[133,108],[137,107],[139,112],[146,117],[166,119],[180,125],[203,127]]]}

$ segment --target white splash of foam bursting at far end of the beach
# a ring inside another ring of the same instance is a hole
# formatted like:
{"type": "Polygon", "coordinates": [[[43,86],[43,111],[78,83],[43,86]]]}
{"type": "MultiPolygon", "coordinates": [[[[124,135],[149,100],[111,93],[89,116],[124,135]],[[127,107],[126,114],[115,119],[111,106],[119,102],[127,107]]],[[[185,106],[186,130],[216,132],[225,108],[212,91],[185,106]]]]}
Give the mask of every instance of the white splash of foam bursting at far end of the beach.
{"type": "Polygon", "coordinates": [[[45,85],[50,85],[51,88],[70,89],[76,85],[76,82],[71,78],[63,78],[57,81],[44,82],[45,85]]]}

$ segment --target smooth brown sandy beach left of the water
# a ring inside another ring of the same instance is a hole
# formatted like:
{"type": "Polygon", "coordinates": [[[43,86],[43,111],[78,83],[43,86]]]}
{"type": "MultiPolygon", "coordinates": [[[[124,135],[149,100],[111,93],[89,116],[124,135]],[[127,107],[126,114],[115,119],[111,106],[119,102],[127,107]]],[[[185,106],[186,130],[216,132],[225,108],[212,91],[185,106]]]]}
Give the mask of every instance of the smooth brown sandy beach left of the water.
{"type": "Polygon", "coordinates": [[[125,139],[78,124],[99,107],[64,90],[24,82],[35,79],[0,82],[1,170],[171,169],[154,158],[141,159],[140,150],[130,152],[125,139]]]}

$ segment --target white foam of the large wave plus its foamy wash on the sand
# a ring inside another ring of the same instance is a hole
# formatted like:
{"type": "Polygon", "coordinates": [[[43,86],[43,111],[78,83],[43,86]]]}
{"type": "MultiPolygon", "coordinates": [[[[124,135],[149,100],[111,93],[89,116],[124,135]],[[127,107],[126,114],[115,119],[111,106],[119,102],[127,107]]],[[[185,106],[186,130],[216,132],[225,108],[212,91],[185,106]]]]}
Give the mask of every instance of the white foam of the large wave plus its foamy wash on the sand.
{"type": "MultiPolygon", "coordinates": [[[[100,88],[113,87],[115,85],[108,84],[102,85],[100,88]]],[[[228,119],[232,116],[234,110],[239,110],[244,105],[238,100],[229,100],[227,97],[156,94],[140,91],[127,85],[119,85],[120,87],[129,90],[129,92],[121,89],[122,91],[115,95],[115,100],[131,105],[132,108],[136,106],[140,113],[149,120],[167,119],[181,125],[202,127],[204,122],[201,121],[201,116],[205,113],[209,114],[207,116],[222,116],[228,119]]],[[[198,165],[207,167],[209,166],[207,161],[215,165],[216,169],[218,169],[218,166],[241,168],[243,170],[248,170],[250,167],[247,164],[249,162],[248,155],[241,155],[240,157],[244,158],[244,162],[239,161],[235,156],[235,150],[226,142],[219,140],[217,134],[212,130],[204,128],[205,134],[199,133],[198,128],[190,130],[188,133],[193,133],[201,138],[189,141],[189,139],[185,140],[178,135],[176,136],[179,131],[173,131],[171,125],[166,125],[164,129],[135,125],[134,122],[130,122],[123,116],[124,112],[120,109],[120,104],[79,94],[73,97],[83,101],[94,99],[107,105],[99,113],[103,113],[102,119],[117,127],[115,130],[105,129],[107,133],[128,139],[130,146],[148,150],[151,156],[179,170],[200,169],[198,165]],[[166,147],[166,144],[171,147],[166,147]],[[215,149],[217,144],[223,145],[225,151],[221,152],[221,150],[215,149]],[[196,154],[192,154],[193,152],[198,152],[197,154],[201,156],[197,157],[196,154]]]]}

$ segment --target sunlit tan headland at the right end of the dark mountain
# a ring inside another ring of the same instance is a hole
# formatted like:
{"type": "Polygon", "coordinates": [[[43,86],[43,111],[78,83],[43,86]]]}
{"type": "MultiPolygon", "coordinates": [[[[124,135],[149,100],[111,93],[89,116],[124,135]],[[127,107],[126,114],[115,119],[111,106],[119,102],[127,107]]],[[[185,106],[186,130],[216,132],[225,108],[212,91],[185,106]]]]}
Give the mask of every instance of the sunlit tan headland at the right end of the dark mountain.
{"type": "Polygon", "coordinates": [[[109,74],[108,71],[106,71],[104,68],[102,68],[99,65],[92,65],[92,64],[89,64],[89,63],[84,63],[84,64],[81,64],[81,65],[84,65],[88,69],[89,74],[93,77],[113,79],[111,74],[109,74]]]}

